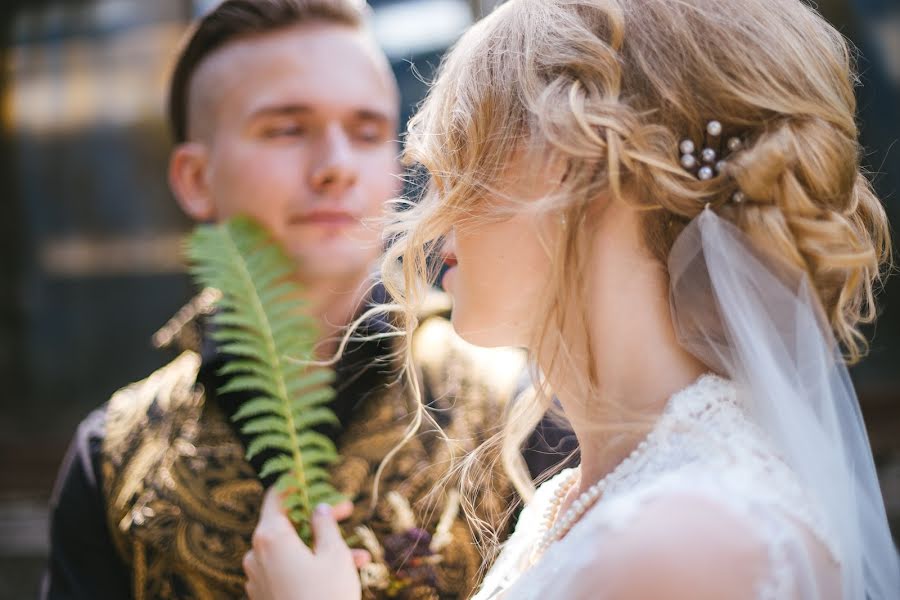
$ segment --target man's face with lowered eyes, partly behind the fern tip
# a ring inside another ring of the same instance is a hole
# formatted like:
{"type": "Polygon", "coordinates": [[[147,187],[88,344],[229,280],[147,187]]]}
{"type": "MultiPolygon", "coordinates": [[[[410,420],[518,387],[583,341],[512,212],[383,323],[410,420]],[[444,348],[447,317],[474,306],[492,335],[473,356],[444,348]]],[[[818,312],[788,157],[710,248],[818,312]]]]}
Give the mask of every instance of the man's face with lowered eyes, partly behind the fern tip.
{"type": "Polygon", "coordinates": [[[201,63],[191,97],[209,218],[254,217],[304,279],[369,269],[400,186],[396,86],[366,34],[305,24],[235,41],[201,63]]]}

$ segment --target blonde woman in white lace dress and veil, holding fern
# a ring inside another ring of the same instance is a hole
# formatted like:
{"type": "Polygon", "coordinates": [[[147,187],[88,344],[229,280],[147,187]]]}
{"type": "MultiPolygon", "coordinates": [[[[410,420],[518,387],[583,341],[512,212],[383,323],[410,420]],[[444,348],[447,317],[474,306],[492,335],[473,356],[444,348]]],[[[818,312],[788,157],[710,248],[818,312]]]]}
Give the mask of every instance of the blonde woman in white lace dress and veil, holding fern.
{"type": "MultiPolygon", "coordinates": [[[[414,305],[440,245],[460,335],[542,373],[507,448],[552,394],[581,451],[476,598],[898,597],[844,365],[889,256],[853,84],[800,0],[512,0],[454,48],[386,279],[414,305]]],[[[359,596],[314,526],[315,553],[270,499],[252,598],[359,596]]]]}

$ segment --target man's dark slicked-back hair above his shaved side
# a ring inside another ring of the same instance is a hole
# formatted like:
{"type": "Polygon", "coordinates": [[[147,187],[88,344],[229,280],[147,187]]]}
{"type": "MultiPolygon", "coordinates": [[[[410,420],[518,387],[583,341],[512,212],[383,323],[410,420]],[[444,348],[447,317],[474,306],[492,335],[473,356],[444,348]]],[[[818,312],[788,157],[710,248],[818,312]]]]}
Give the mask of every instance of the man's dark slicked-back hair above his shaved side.
{"type": "Polygon", "coordinates": [[[188,139],[191,79],[203,60],[237,39],[309,21],[360,27],[359,0],[225,0],[201,18],[178,54],[169,86],[169,126],[176,143],[188,139]]]}

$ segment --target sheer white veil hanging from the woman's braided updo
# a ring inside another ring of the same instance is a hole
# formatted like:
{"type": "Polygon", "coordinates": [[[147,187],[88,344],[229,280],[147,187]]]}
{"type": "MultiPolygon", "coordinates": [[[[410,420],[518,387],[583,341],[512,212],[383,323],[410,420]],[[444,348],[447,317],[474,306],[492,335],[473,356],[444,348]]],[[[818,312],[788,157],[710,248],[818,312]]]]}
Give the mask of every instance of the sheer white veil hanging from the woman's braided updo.
{"type": "Polygon", "coordinates": [[[669,255],[681,344],[746,406],[820,503],[844,599],[900,597],[872,451],[840,348],[805,273],[772,264],[707,207],[669,255]]]}

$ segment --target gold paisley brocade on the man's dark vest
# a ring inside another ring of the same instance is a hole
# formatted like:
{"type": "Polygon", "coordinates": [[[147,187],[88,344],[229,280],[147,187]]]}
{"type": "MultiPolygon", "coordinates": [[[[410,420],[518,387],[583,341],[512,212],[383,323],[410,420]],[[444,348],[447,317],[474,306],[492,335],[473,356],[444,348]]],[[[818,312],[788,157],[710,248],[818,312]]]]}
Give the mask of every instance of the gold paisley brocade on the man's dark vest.
{"type": "MultiPolygon", "coordinates": [[[[446,412],[445,429],[451,438],[467,440],[465,446],[499,424],[502,405],[524,366],[517,352],[468,346],[439,317],[416,332],[413,353],[434,405],[456,407],[446,412]]],[[[131,566],[138,600],[244,596],[241,560],[250,547],[263,490],[226,417],[214,403],[204,402],[196,383],[199,367],[199,355],[186,351],[117,392],[108,404],[102,457],[107,518],[131,566]]],[[[354,515],[342,524],[348,536],[357,525],[379,539],[393,532],[397,515],[386,501],[389,492],[414,508],[417,527],[435,531],[443,507],[425,506],[422,499],[450,458],[449,447],[436,434],[420,433],[403,447],[387,465],[378,504],[371,506],[376,469],[403,437],[411,412],[409,395],[397,382],[372,394],[339,436],[341,461],[332,475],[355,504],[354,515]]],[[[497,488],[509,489],[505,483],[497,488]]],[[[434,585],[411,585],[395,595],[366,590],[365,597],[467,597],[482,559],[462,516],[450,533],[452,541],[434,566],[434,585]]]]}

